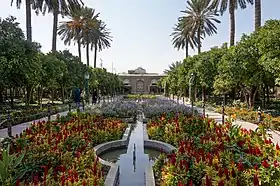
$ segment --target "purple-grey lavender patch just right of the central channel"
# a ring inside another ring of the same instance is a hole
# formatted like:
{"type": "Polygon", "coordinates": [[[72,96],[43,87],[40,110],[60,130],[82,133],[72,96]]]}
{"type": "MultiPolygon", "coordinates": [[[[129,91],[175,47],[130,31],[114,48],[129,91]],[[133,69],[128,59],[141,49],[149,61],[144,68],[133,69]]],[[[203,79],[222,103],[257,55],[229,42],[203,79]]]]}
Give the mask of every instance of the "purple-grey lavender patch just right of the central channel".
{"type": "Polygon", "coordinates": [[[145,117],[158,117],[164,113],[183,113],[190,114],[191,110],[185,105],[178,104],[170,100],[149,100],[143,103],[143,112],[145,117]]]}

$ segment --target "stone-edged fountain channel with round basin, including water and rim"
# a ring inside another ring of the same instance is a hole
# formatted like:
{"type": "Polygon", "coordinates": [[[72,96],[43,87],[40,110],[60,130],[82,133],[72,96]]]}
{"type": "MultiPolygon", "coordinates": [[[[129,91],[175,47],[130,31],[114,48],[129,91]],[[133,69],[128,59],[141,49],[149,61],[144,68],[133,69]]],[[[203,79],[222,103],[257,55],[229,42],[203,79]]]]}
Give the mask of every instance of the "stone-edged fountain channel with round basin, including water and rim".
{"type": "Polygon", "coordinates": [[[129,138],[127,134],[124,135],[125,140],[107,142],[95,147],[101,163],[111,167],[105,185],[154,185],[152,165],[160,155],[160,150],[168,153],[175,149],[166,143],[148,139],[146,124],[143,124],[144,115],[140,112],[136,123],[131,124],[132,132],[129,138]]]}

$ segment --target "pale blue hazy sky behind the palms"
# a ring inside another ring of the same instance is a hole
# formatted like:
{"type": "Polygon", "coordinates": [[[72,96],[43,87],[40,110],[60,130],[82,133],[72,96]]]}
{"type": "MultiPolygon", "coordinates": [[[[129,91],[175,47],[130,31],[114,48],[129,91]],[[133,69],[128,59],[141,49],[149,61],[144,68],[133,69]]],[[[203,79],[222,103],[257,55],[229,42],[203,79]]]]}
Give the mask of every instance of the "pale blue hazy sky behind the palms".
{"type": "MultiPolygon", "coordinates": [[[[10,6],[11,0],[0,0],[0,17],[6,18],[13,15],[17,18],[25,33],[25,4],[20,9],[10,6]]],[[[147,72],[162,73],[164,69],[175,61],[182,61],[184,50],[174,49],[170,34],[182,16],[181,10],[186,8],[186,0],[83,0],[88,7],[100,13],[100,18],[105,21],[113,36],[112,46],[97,55],[97,66],[108,71],[121,73],[130,69],[142,67],[147,72]],[[113,68],[112,68],[113,66],[113,68]]],[[[279,0],[262,0],[262,24],[268,19],[280,19],[279,0]]],[[[229,42],[229,17],[226,12],[219,17],[221,23],[217,25],[218,34],[208,36],[202,41],[202,51],[207,51],[213,46],[221,46],[229,42]]],[[[60,18],[59,21],[63,21],[60,18]]],[[[45,16],[32,15],[32,39],[42,45],[42,51],[51,50],[52,42],[52,14],[45,16]]],[[[254,7],[236,12],[236,40],[243,33],[254,30],[254,7]]],[[[65,46],[58,37],[58,50],[70,50],[78,55],[77,45],[65,46]]],[[[190,55],[197,51],[190,50],[190,55]]],[[[90,53],[90,65],[93,66],[94,52],[90,53]]],[[[86,63],[85,49],[82,49],[82,61],[86,63]]]]}

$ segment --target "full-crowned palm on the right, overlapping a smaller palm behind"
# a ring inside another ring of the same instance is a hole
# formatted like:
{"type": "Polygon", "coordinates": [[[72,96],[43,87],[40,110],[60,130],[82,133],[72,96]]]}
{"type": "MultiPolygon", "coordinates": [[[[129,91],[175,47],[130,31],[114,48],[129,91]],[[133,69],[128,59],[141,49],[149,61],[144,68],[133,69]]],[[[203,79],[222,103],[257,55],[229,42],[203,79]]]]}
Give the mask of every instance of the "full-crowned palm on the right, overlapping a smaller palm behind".
{"type": "Polygon", "coordinates": [[[201,52],[201,38],[206,35],[217,33],[217,27],[214,23],[220,23],[217,17],[219,14],[213,9],[211,0],[188,0],[187,9],[181,11],[186,15],[181,17],[183,27],[189,30],[191,34],[197,34],[198,53],[201,52]]]}

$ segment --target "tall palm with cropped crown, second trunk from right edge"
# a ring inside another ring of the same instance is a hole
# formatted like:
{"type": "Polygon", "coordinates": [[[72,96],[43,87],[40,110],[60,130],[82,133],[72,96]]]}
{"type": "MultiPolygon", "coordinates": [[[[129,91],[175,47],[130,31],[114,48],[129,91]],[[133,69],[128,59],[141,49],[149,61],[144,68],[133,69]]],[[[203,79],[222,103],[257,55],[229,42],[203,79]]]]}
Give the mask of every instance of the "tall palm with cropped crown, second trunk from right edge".
{"type": "Polygon", "coordinates": [[[228,9],[230,19],[230,46],[235,43],[235,10],[247,8],[247,3],[253,4],[254,0],[213,0],[213,6],[221,12],[221,15],[228,9]]]}

